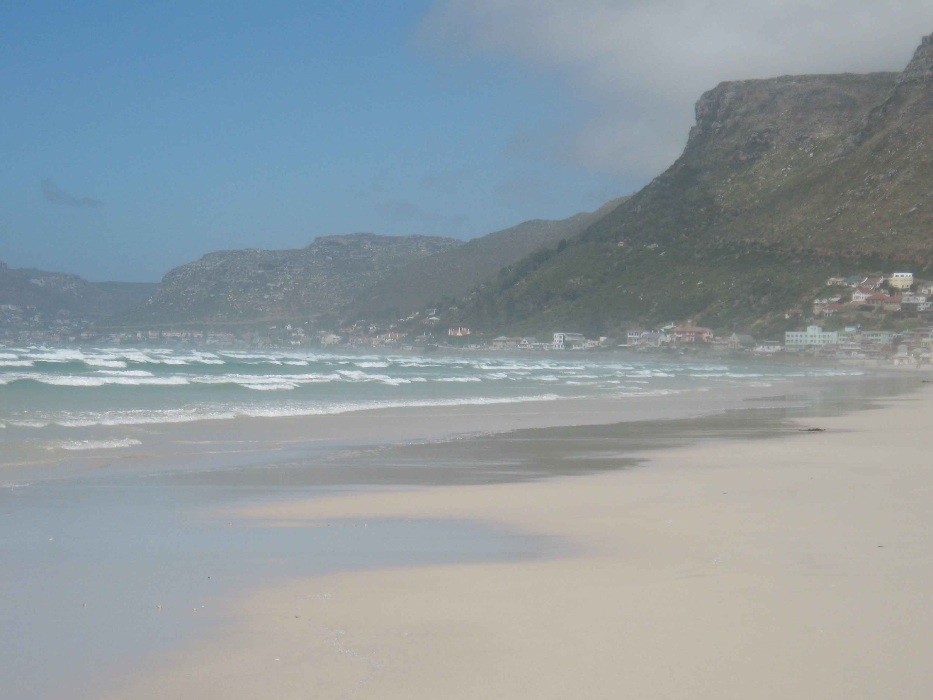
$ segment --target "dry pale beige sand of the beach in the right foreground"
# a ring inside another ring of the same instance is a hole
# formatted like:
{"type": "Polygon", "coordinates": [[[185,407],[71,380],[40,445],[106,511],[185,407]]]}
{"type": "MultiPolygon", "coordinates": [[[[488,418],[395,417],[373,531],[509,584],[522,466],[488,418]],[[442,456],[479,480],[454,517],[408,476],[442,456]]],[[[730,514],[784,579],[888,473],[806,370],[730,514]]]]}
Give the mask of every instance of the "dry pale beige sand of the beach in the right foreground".
{"type": "Polygon", "coordinates": [[[633,471],[256,509],[492,521],[571,553],[292,581],[114,697],[933,697],[931,409],[925,390],[633,471]]]}

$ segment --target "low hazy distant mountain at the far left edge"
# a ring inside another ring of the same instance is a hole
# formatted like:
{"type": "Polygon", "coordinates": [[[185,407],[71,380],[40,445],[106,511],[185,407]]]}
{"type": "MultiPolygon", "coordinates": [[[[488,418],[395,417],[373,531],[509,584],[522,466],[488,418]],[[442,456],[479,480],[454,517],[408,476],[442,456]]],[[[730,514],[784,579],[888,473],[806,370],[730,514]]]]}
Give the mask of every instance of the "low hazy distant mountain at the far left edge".
{"type": "Polygon", "coordinates": [[[77,274],[32,268],[10,269],[0,262],[0,304],[35,306],[40,312],[109,316],[153,294],[148,282],[88,282],[77,274]]]}

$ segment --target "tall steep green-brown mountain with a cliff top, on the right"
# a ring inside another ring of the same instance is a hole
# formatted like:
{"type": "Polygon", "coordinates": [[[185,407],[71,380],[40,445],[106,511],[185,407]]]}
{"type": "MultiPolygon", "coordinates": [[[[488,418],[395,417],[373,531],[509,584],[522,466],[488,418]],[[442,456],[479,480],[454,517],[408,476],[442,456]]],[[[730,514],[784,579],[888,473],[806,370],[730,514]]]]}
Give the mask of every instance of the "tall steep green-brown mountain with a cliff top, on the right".
{"type": "MultiPolygon", "coordinates": [[[[933,41],[900,74],[725,82],[683,154],[564,250],[472,295],[487,329],[744,329],[833,274],[933,262],[933,41]],[[620,244],[624,244],[621,246],[620,244]]],[[[446,320],[446,319],[445,319],[446,320]]]]}

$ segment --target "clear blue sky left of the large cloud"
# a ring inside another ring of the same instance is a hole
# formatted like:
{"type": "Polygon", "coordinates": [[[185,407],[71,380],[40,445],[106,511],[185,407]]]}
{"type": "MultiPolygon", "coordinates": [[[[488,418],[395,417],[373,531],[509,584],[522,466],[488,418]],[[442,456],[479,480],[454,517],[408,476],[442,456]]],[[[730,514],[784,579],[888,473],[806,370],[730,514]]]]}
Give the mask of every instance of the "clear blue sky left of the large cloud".
{"type": "Polygon", "coordinates": [[[524,148],[574,105],[545,71],[439,56],[428,5],[5,3],[0,260],[154,281],[216,249],[472,238],[632,188],[524,148]]]}

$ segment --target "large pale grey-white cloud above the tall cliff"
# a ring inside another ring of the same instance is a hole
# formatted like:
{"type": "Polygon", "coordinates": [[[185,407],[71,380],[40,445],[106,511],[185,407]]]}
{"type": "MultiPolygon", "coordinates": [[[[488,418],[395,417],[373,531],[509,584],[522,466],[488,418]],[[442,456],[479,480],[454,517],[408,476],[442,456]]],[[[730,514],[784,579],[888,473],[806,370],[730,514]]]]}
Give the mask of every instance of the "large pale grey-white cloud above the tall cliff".
{"type": "Polygon", "coordinates": [[[933,32],[929,0],[439,0],[418,30],[447,57],[554,71],[580,119],[553,157],[647,179],[680,152],[723,80],[898,71],[933,32]]]}

